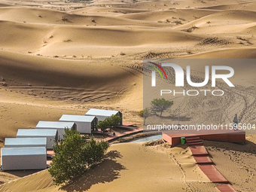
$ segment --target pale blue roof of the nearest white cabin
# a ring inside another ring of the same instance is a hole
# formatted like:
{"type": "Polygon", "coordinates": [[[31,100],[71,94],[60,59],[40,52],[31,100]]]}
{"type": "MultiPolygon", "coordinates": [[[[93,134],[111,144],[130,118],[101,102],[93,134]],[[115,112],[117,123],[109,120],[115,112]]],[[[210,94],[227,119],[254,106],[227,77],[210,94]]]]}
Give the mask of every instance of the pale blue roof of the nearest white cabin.
{"type": "Polygon", "coordinates": [[[20,156],[20,155],[38,155],[46,154],[46,148],[33,147],[33,148],[2,148],[2,156],[20,156]]]}

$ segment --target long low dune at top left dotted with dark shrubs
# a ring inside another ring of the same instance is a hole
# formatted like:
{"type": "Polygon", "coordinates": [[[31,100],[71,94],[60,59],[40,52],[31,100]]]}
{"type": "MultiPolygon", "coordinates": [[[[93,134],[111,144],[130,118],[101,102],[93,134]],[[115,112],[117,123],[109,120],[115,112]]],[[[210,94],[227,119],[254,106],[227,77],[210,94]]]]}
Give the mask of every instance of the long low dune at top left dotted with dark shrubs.
{"type": "MultiPolygon", "coordinates": [[[[46,10],[44,8],[0,8],[0,20],[9,20],[20,23],[45,23],[82,26],[139,25],[138,21],[128,20],[120,17],[69,14],[63,11],[46,10]]],[[[160,24],[158,23],[158,26],[159,25],[160,24]]]]}

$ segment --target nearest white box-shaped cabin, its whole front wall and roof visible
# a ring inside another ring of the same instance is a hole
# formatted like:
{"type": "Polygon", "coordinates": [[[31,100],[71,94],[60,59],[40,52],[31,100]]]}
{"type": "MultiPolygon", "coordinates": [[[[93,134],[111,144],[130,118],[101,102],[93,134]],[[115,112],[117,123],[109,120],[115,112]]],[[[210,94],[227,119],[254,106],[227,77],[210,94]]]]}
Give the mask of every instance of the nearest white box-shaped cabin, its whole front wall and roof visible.
{"type": "Polygon", "coordinates": [[[46,169],[47,152],[44,147],[2,148],[1,166],[3,171],[46,169]]]}

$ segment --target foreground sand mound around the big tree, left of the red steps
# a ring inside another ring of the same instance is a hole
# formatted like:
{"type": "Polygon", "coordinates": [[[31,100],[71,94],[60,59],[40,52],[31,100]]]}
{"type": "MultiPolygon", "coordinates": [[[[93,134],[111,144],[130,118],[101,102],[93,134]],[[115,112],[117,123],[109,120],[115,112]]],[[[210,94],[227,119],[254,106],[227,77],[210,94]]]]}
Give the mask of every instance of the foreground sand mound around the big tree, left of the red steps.
{"type": "MultiPolygon", "coordinates": [[[[213,186],[196,166],[187,148],[146,147],[143,143],[130,143],[111,145],[108,151],[107,160],[62,190],[120,191],[122,186],[122,191],[169,191],[170,187],[175,191],[210,191],[213,186]],[[179,157],[178,161],[175,157],[179,157]]],[[[59,191],[59,187],[53,186],[47,171],[2,185],[0,190],[17,188],[24,192],[59,191]],[[39,179],[40,184],[33,183],[31,178],[39,179]]]]}

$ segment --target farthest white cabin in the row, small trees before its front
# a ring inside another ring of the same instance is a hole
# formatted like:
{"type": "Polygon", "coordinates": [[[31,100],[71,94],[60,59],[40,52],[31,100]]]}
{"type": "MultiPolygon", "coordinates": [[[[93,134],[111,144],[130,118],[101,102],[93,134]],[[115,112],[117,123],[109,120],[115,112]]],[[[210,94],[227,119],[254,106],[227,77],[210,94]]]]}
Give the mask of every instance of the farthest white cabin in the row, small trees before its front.
{"type": "Polygon", "coordinates": [[[105,118],[111,117],[112,115],[118,115],[121,117],[120,125],[123,124],[123,114],[120,111],[91,108],[85,115],[96,116],[98,120],[105,120],[105,118]]]}

